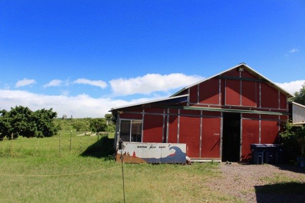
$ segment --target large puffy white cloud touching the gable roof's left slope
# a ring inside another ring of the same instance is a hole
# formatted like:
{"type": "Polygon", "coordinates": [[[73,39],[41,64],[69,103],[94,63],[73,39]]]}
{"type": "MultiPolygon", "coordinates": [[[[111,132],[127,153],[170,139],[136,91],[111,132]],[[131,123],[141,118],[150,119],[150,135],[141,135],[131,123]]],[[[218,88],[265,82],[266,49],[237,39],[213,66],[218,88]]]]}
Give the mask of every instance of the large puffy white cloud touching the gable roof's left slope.
{"type": "Polygon", "coordinates": [[[187,76],[181,73],[169,75],[146,74],[142,77],[128,79],[113,79],[109,83],[114,95],[149,94],[155,91],[169,91],[179,87],[188,86],[202,80],[201,76],[187,76]]]}

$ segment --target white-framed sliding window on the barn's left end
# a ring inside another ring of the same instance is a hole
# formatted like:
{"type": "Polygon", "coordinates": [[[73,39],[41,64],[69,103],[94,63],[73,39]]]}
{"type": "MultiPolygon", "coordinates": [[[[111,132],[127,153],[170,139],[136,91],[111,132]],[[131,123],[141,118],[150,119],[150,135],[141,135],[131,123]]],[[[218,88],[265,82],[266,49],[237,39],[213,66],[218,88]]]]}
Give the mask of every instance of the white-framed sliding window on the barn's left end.
{"type": "Polygon", "coordinates": [[[120,120],[120,139],[123,142],[137,142],[142,140],[141,120],[120,120]]]}

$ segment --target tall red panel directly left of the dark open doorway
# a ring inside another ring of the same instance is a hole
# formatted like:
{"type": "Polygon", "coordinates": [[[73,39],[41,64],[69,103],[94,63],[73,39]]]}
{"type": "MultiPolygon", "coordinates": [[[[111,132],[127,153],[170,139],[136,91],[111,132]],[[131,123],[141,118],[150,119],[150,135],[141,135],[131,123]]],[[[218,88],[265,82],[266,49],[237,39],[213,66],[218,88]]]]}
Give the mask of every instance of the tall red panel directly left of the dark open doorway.
{"type": "Polygon", "coordinates": [[[221,118],[202,118],[202,158],[220,157],[221,118]]]}

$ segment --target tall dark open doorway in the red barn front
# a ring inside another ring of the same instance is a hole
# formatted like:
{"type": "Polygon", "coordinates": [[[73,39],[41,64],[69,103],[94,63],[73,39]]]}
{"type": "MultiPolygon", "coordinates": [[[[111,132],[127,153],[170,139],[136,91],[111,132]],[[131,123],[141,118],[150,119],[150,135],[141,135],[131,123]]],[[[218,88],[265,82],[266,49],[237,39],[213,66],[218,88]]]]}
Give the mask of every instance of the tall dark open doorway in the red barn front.
{"type": "Polygon", "coordinates": [[[239,161],[240,151],[240,114],[223,115],[222,161],[239,161]]]}

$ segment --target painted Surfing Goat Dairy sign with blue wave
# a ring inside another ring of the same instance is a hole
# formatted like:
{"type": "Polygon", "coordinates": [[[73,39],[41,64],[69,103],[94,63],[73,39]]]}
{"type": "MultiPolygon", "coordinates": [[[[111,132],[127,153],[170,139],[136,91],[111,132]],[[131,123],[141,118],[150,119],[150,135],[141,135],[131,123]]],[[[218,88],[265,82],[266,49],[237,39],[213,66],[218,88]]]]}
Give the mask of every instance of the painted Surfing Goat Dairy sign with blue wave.
{"type": "MultiPolygon", "coordinates": [[[[118,143],[116,161],[121,162],[118,143]]],[[[124,143],[125,163],[185,163],[186,144],[176,143],[124,143]]]]}

